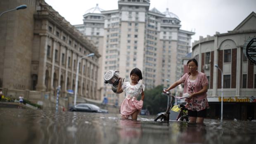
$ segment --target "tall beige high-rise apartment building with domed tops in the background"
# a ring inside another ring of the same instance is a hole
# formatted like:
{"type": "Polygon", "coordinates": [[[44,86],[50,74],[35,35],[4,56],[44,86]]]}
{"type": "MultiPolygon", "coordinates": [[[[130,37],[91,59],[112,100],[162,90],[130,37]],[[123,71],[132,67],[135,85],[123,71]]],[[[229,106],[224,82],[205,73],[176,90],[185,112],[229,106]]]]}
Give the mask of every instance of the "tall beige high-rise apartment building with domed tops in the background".
{"type": "Polygon", "coordinates": [[[137,67],[146,89],[168,86],[183,74],[181,58],[190,52],[194,32],[180,30],[180,19],[168,9],[149,10],[149,5],[149,0],[119,0],[118,9],[108,11],[97,5],[84,15],[84,24],[76,25],[102,55],[98,90],[111,104],[119,101],[120,105],[124,96],[118,97],[103,83],[108,70],[119,70],[128,81],[130,71],[137,67]]]}

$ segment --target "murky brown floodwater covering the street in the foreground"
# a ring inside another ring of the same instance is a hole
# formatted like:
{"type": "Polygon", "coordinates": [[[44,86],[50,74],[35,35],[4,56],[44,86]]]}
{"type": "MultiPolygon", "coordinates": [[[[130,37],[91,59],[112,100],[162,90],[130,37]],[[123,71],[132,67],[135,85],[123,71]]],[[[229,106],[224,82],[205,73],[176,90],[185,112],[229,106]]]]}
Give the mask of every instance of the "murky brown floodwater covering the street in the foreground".
{"type": "Polygon", "coordinates": [[[118,114],[0,107],[1,144],[255,144],[256,122],[206,119],[204,125],[155,116],[137,121],[118,114]]]}

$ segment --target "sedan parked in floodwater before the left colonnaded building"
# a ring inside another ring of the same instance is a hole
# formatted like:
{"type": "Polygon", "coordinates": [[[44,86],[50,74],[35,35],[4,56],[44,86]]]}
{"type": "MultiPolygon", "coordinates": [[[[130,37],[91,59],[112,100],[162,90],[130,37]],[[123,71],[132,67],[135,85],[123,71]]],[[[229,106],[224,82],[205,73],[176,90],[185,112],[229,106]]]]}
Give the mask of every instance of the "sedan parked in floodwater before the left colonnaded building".
{"type": "Polygon", "coordinates": [[[109,113],[106,109],[100,109],[99,106],[95,104],[77,104],[69,108],[69,111],[85,111],[85,112],[95,112],[95,113],[109,113]]]}

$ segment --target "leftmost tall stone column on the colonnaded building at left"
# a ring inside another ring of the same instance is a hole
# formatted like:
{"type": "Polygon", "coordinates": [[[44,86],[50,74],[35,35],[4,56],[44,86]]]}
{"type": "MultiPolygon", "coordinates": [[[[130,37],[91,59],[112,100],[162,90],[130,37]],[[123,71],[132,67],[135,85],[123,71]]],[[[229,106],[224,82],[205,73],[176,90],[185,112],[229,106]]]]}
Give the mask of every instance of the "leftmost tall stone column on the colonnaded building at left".
{"type": "Polygon", "coordinates": [[[47,35],[40,35],[40,52],[39,52],[39,64],[38,64],[38,82],[36,85],[36,90],[45,91],[45,71],[46,71],[46,60],[47,60],[47,45],[48,38],[47,35]]]}

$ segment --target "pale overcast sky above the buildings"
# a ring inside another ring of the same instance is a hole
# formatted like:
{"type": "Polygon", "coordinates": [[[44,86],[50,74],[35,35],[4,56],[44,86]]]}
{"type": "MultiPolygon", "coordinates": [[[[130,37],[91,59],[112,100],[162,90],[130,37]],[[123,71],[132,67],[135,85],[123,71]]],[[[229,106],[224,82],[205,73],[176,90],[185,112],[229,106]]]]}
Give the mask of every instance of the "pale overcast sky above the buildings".
{"type": "MultiPolygon", "coordinates": [[[[45,0],[72,25],[83,24],[83,14],[99,4],[104,10],[118,9],[118,0],[45,0]]],[[[192,42],[199,36],[226,33],[239,25],[252,11],[256,0],[150,0],[150,7],[176,14],[181,29],[194,31],[192,42]]]]}

